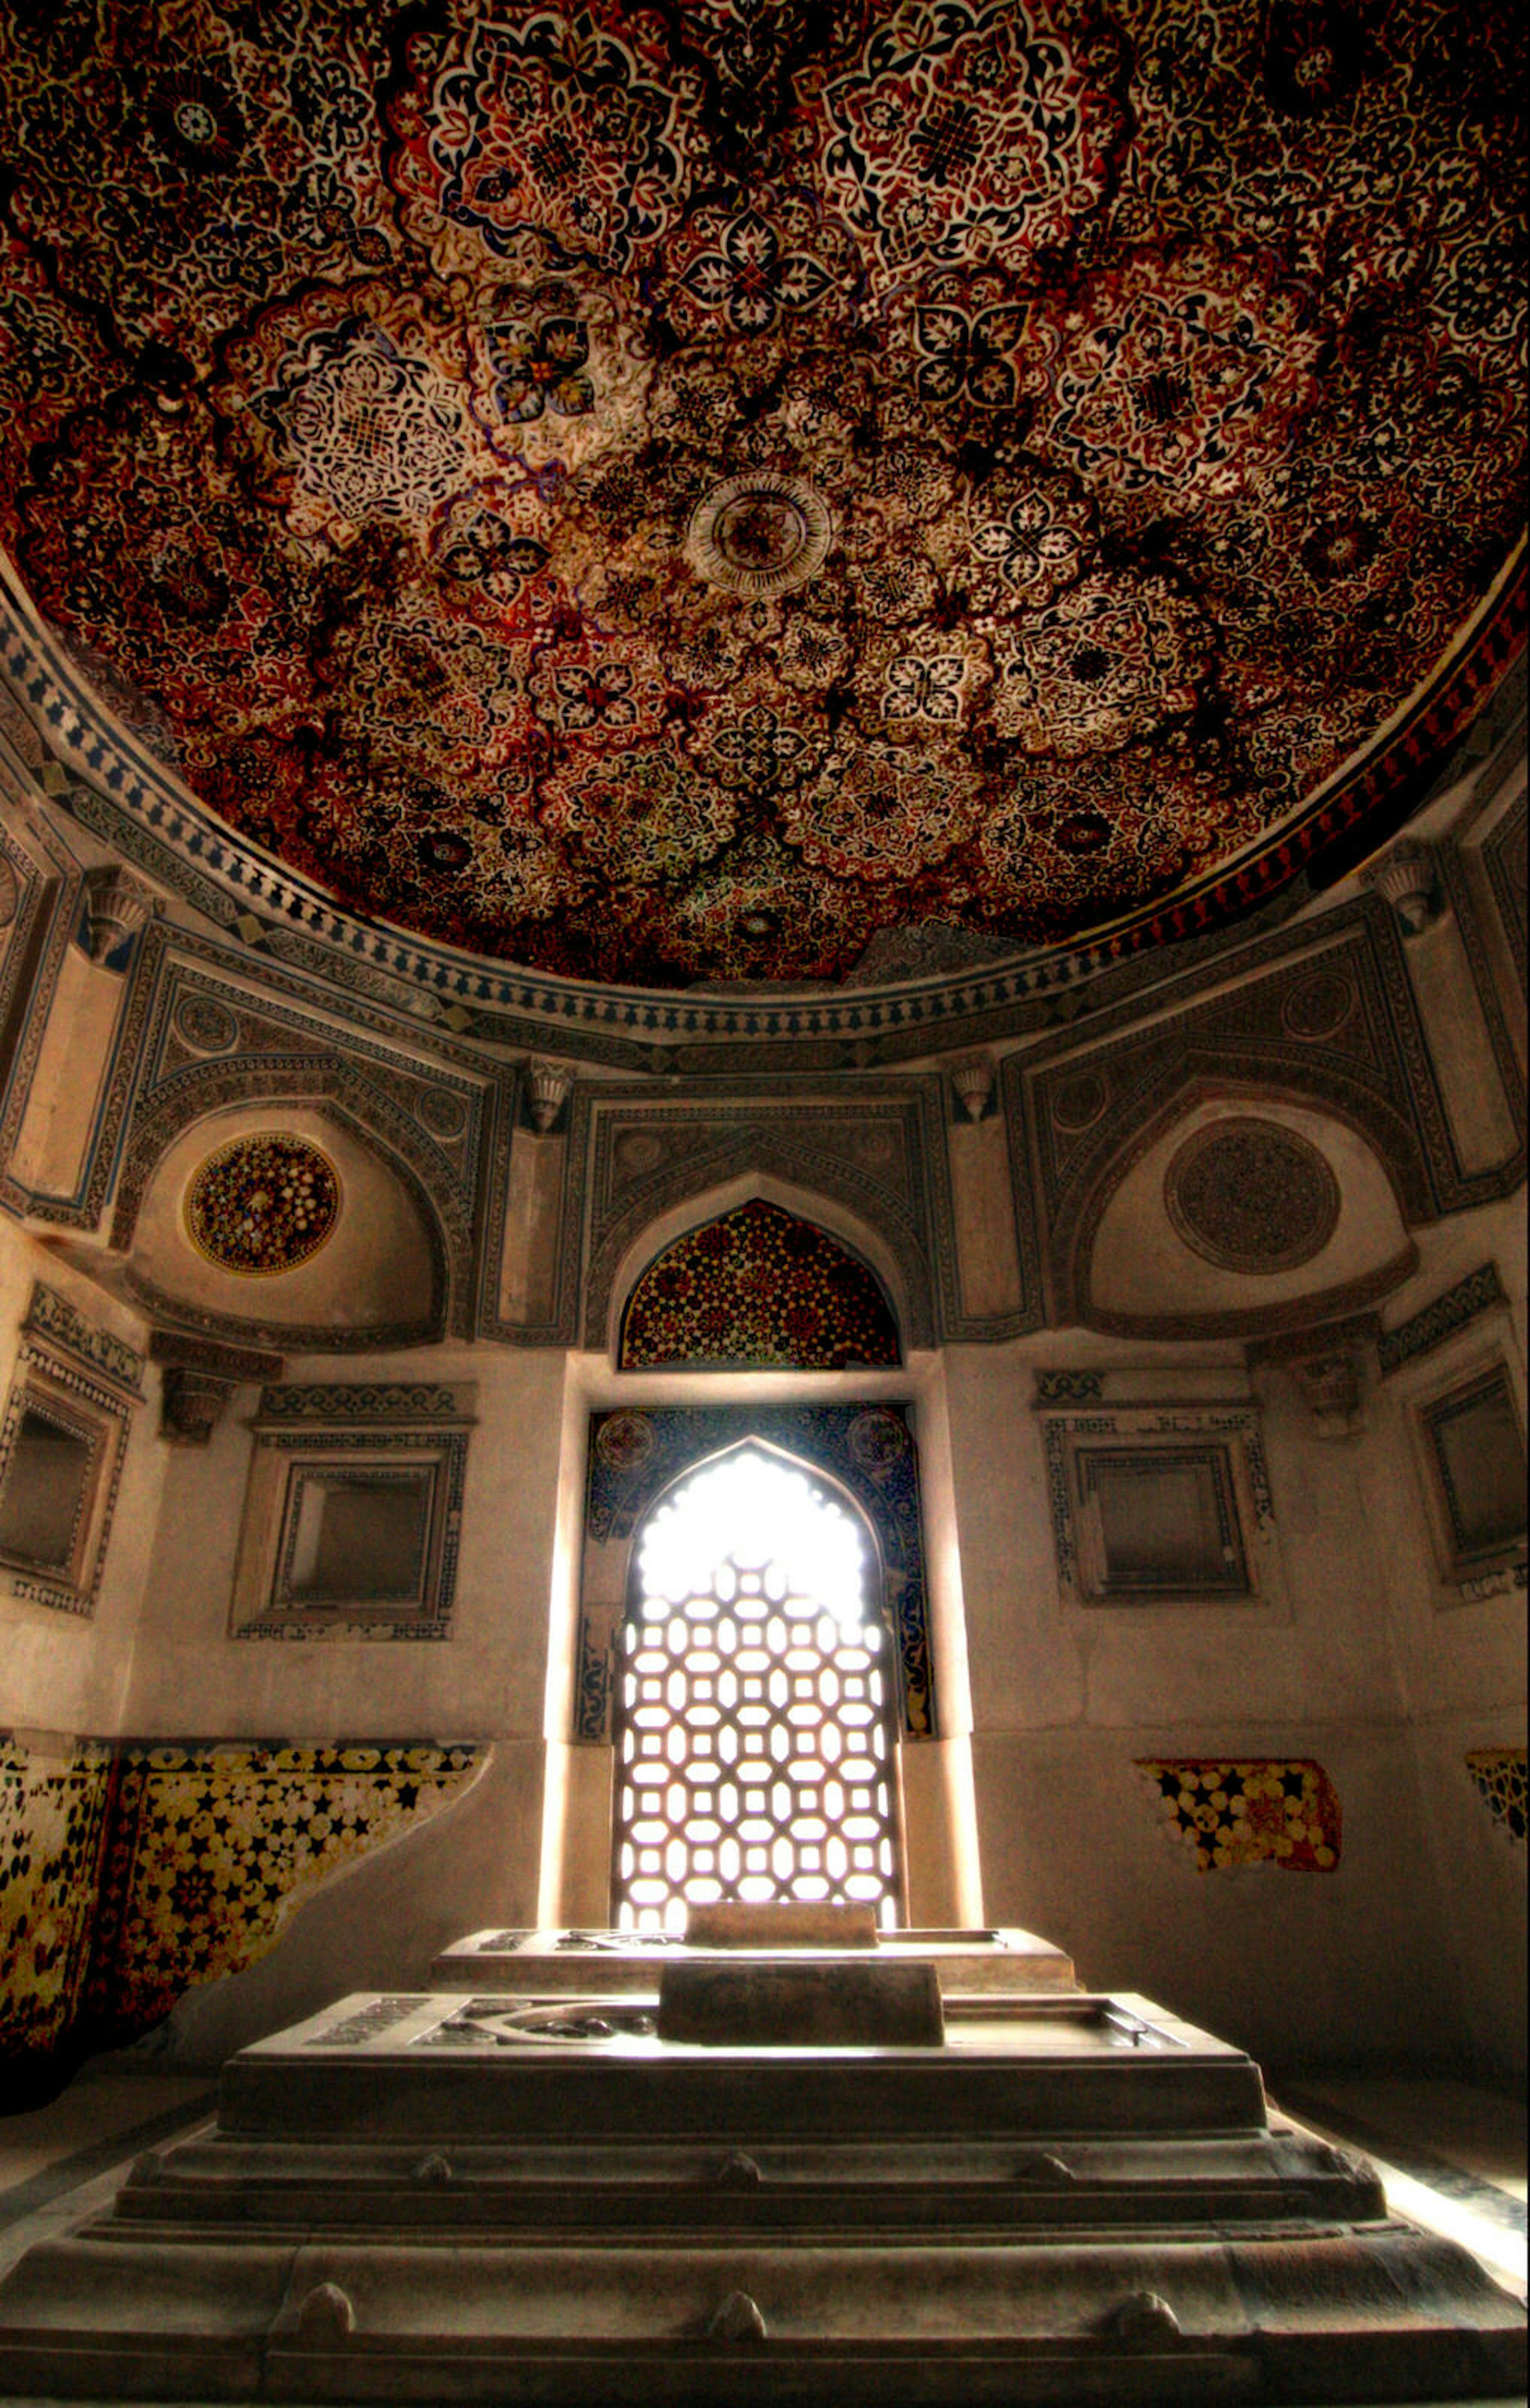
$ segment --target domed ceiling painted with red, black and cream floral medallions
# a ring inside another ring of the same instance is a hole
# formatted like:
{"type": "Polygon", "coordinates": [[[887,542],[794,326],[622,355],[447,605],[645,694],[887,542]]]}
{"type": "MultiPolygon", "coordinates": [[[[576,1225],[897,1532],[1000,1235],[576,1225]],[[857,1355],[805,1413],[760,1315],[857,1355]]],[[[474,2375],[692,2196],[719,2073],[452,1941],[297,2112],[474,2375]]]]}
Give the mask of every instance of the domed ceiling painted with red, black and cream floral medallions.
{"type": "Polygon", "coordinates": [[[0,535],[204,804],[452,944],[832,980],[1152,917],[1299,864],[1511,551],[1516,41],[12,7],[0,535]]]}

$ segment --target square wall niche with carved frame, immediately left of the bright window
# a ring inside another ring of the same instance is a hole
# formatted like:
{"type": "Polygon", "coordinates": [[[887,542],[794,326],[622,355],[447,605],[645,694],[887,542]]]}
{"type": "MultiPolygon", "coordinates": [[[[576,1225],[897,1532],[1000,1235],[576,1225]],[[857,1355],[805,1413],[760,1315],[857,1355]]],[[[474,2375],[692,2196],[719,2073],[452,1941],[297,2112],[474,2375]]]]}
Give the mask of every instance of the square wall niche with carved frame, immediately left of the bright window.
{"type": "Polygon", "coordinates": [[[236,1637],[450,1635],[472,1387],[267,1387],[233,1577],[236,1637]]]}

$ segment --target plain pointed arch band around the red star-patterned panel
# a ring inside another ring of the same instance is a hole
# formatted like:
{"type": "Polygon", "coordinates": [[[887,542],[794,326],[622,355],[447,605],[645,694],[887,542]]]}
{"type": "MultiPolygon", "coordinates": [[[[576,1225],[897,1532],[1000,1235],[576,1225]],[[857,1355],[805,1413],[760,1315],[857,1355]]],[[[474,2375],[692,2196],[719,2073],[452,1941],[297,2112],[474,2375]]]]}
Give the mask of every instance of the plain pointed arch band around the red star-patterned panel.
{"type": "Polygon", "coordinates": [[[905,1351],[933,1346],[933,1305],[926,1255],[914,1226],[885,1197],[868,1204],[866,1182],[842,1165],[803,1165],[796,1149],[741,1141],[686,1163],[666,1182],[650,1182],[606,1233],[585,1286],[585,1346],[618,1358],[621,1315],[640,1274],[690,1228],[702,1228],[760,1199],[811,1221],[871,1267],[880,1281],[905,1351]],[[775,1156],[784,1156],[777,1168],[775,1156]],[[731,1163],[739,1161],[739,1168],[731,1163]],[[729,1175],[731,1168],[731,1175],[729,1175]],[[722,1173],[722,1175],[719,1175],[722,1173]],[[813,1180],[808,1185],[806,1180],[813,1180]]]}

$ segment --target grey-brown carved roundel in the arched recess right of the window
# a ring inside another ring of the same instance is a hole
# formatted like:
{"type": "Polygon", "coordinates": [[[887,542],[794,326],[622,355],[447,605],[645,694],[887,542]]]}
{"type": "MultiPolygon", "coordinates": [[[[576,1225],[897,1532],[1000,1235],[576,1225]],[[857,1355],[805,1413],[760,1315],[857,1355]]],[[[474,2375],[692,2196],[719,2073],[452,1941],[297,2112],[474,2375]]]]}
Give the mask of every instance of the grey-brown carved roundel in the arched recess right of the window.
{"type": "Polygon", "coordinates": [[[1273,1120],[1217,1120],[1164,1173],[1164,1206],[1191,1252],[1222,1271],[1294,1271],[1333,1238],[1340,1192],[1326,1158],[1273,1120]]]}

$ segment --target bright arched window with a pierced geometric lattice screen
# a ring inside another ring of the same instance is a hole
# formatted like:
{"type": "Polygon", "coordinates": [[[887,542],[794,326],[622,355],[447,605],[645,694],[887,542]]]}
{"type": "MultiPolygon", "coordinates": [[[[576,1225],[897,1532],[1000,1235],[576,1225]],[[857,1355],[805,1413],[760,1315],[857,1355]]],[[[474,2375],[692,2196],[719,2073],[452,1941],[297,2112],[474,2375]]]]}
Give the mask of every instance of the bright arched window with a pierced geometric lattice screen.
{"type": "Polygon", "coordinates": [[[861,1900],[900,1914],[880,1563],[828,1483],[748,1440],[688,1474],[633,1551],[616,1698],[613,1922],[861,1900]]]}

